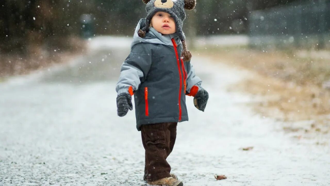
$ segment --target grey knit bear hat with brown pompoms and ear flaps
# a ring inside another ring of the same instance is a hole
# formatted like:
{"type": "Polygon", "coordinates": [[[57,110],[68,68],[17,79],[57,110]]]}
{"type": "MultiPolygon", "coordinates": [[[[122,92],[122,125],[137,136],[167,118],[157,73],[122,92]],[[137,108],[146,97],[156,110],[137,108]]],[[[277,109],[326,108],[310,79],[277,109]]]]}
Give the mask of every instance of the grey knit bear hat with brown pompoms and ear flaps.
{"type": "Polygon", "coordinates": [[[175,21],[176,32],[178,33],[180,40],[182,41],[183,51],[181,57],[183,61],[189,61],[192,57],[191,52],[187,50],[185,43],[185,35],[182,31],[183,20],[186,18],[184,9],[192,10],[195,8],[196,0],[143,0],[147,4],[146,11],[146,24],[145,27],[138,31],[140,37],[145,37],[146,32],[149,30],[151,18],[156,12],[167,12],[175,21]]]}

